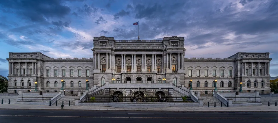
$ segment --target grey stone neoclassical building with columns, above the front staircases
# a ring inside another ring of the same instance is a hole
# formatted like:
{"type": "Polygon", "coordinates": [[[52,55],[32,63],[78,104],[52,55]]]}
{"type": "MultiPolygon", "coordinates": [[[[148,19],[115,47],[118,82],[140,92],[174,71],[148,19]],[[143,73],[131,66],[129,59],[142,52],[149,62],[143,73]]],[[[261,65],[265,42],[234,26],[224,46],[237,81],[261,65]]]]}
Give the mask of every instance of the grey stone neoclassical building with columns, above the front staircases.
{"type": "MultiPolygon", "coordinates": [[[[51,58],[40,52],[9,53],[9,93],[18,90],[76,94],[106,82],[163,83],[212,94],[242,90],[269,93],[270,53],[238,52],[226,58],[186,58],[184,38],[163,40],[115,40],[95,37],[90,58],[51,58]],[[61,79],[64,81],[61,82],[61,79]],[[217,79],[217,83],[214,80],[217,79]]],[[[138,84],[140,85],[140,84],[138,84]]]]}

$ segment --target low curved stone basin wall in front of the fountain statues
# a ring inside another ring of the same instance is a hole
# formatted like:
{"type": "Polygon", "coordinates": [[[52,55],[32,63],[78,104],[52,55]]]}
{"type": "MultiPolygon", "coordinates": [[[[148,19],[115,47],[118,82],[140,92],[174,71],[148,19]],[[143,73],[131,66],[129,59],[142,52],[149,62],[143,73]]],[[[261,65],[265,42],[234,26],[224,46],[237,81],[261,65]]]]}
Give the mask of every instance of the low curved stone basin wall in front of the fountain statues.
{"type": "Polygon", "coordinates": [[[199,107],[198,102],[163,102],[163,103],[117,103],[117,102],[79,102],[78,106],[108,106],[115,108],[165,108],[165,107],[199,107]]]}

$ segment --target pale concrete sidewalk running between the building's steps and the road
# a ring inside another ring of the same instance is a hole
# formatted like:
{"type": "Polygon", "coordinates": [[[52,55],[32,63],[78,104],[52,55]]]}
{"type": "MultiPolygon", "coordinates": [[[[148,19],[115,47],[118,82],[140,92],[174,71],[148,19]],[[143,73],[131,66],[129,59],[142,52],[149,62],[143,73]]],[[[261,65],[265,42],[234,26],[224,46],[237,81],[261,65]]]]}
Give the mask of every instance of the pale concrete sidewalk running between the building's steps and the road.
{"type": "Polygon", "coordinates": [[[39,110],[121,110],[121,111],[260,111],[278,112],[277,106],[248,106],[248,107],[166,107],[151,109],[124,109],[104,106],[46,106],[25,104],[0,104],[0,109],[39,109],[39,110]]]}

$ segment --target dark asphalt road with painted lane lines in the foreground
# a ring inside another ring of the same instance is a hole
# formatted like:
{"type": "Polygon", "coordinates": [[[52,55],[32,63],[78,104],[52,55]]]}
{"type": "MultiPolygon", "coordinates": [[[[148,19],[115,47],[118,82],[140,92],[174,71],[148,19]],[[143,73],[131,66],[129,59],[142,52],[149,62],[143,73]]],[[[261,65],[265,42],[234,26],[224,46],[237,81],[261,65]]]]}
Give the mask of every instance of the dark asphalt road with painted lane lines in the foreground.
{"type": "Polygon", "coordinates": [[[0,123],[278,123],[277,112],[0,110],[0,123]]]}

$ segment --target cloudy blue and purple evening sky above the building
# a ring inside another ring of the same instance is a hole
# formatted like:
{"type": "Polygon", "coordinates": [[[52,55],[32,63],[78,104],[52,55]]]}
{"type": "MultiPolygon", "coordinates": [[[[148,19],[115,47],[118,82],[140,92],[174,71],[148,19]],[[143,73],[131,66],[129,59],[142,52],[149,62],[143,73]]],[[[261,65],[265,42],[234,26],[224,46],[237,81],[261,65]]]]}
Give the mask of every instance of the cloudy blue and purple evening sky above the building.
{"type": "Polygon", "coordinates": [[[185,57],[270,52],[278,76],[277,0],[0,0],[0,75],[8,52],[93,57],[93,37],[184,37],[185,57]]]}

